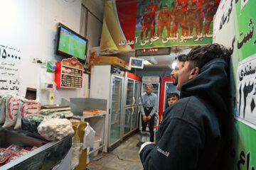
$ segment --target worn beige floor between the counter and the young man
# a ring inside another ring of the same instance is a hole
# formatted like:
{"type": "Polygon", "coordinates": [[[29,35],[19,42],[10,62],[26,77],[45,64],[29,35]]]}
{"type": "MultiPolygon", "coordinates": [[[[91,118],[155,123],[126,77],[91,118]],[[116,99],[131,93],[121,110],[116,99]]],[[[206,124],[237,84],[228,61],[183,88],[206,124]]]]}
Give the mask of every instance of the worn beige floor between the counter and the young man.
{"type": "Polygon", "coordinates": [[[139,159],[139,133],[124,140],[112,152],[100,153],[89,164],[89,170],[143,170],[139,159]]]}

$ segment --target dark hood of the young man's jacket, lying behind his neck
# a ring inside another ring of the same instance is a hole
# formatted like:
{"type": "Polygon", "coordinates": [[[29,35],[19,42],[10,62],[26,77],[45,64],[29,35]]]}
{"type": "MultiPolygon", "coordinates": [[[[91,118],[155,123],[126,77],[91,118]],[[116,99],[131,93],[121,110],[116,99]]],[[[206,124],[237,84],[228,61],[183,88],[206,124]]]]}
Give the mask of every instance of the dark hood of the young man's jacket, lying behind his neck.
{"type": "Polygon", "coordinates": [[[228,112],[228,63],[217,58],[206,63],[201,73],[181,86],[181,98],[200,96],[228,112]]]}

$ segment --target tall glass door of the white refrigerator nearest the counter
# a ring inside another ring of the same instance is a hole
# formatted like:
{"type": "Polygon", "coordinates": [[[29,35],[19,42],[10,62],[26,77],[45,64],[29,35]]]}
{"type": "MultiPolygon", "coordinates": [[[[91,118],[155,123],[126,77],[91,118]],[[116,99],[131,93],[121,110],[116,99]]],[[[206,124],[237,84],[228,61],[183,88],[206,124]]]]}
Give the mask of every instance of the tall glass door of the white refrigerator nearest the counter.
{"type": "Polygon", "coordinates": [[[110,108],[110,146],[120,140],[123,78],[112,76],[110,108]]]}

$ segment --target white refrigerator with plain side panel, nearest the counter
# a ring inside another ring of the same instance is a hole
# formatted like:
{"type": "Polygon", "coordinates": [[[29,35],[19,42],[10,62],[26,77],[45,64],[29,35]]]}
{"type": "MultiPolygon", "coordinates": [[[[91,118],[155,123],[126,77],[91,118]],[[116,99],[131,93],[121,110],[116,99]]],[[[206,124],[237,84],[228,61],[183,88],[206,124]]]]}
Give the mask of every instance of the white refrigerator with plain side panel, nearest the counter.
{"type": "Polygon", "coordinates": [[[107,149],[121,141],[124,70],[113,65],[96,65],[91,70],[90,98],[107,99],[107,149]]]}

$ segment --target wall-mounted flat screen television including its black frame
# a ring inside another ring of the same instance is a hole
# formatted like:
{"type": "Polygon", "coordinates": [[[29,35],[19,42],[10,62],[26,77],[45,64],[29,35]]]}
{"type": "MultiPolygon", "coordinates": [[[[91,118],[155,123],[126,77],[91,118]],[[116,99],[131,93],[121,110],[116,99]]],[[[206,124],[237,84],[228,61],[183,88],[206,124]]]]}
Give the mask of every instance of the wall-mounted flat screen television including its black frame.
{"type": "Polygon", "coordinates": [[[61,57],[77,57],[78,61],[85,64],[87,57],[88,40],[75,33],[70,28],[59,23],[56,34],[55,54],[61,57]]]}

